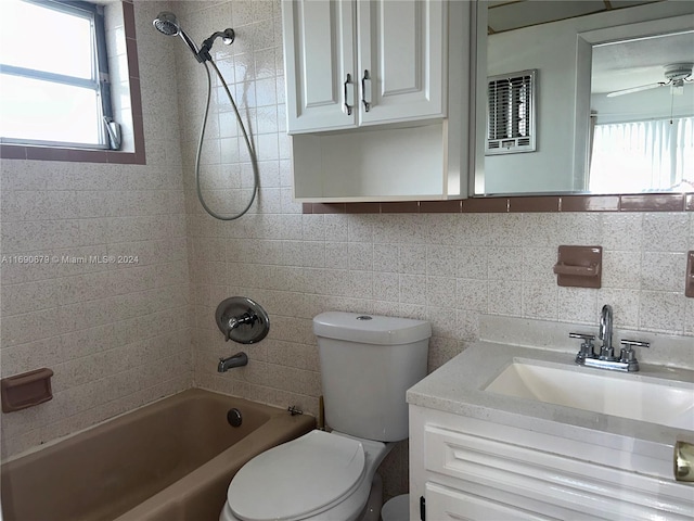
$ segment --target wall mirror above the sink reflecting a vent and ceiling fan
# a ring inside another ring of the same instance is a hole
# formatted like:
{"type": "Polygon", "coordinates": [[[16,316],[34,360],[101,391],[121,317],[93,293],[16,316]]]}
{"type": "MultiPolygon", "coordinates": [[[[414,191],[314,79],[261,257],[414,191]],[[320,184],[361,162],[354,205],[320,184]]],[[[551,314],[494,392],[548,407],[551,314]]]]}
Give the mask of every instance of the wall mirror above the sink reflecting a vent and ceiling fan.
{"type": "Polygon", "coordinates": [[[694,192],[694,2],[479,1],[477,35],[474,196],[694,192]]]}

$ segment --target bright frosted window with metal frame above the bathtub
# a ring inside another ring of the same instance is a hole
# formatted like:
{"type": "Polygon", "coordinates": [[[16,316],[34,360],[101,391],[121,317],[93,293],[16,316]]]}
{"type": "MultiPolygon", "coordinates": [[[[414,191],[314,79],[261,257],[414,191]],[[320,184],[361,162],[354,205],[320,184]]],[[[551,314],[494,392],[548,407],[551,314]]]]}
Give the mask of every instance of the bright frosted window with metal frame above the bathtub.
{"type": "Polygon", "coordinates": [[[118,149],[103,8],[81,1],[2,0],[3,143],[118,149]]]}

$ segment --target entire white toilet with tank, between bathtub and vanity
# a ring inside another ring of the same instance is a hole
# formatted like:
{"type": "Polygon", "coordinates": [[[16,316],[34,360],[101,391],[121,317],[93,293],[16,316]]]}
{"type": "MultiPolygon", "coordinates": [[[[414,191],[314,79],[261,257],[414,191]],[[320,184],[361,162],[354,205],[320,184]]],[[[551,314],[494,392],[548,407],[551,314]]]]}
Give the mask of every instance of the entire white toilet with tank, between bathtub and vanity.
{"type": "Polygon", "coordinates": [[[429,322],[327,312],[313,318],[331,432],[311,431],[248,461],[220,521],[377,521],[376,469],[408,437],[406,391],[426,376],[429,322]]]}

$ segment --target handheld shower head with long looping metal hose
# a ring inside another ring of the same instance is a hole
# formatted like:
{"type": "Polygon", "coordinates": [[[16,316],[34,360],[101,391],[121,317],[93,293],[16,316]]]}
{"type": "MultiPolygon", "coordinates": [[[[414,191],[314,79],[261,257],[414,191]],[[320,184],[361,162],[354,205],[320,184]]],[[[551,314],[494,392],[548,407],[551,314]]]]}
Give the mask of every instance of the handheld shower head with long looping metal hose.
{"type": "Polygon", "coordinates": [[[171,13],[169,11],[162,11],[157,15],[157,17],[154,18],[154,21],[152,22],[152,25],[154,25],[154,28],[156,30],[158,30],[159,33],[162,33],[163,35],[166,35],[166,36],[180,36],[183,39],[183,41],[185,42],[185,45],[188,46],[188,48],[192,51],[193,55],[195,56],[195,60],[197,60],[198,63],[202,63],[203,65],[205,65],[205,73],[207,73],[207,102],[206,102],[206,105],[205,105],[205,115],[203,117],[203,125],[202,125],[201,132],[200,132],[200,140],[197,142],[197,153],[195,154],[195,185],[196,185],[196,189],[197,189],[197,199],[200,200],[200,203],[202,204],[203,208],[209,215],[211,215],[214,218],[219,219],[219,220],[234,220],[234,219],[237,219],[239,217],[244,215],[246,212],[248,212],[248,209],[253,205],[253,202],[256,199],[256,194],[258,193],[258,187],[260,185],[260,175],[258,174],[258,160],[256,157],[255,148],[253,147],[253,143],[250,142],[250,138],[248,137],[248,132],[246,131],[246,127],[243,124],[243,120],[241,118],[241,114],[239,114],[239,107],[236,107],[236,103],[234,102],[234,99],[231,96],[231,91],[229,90],[229,86],[227,85],[227,81],[224,80],[223,76],[219,72],[219,68],[215,64],[215,61],[213,60],[211,55],[209,54],[209,50],[213,48],[213,45],[215,43],[215,40],[217,38],[221,38],[222,42],[226,46],[230,46],[231,43],[233,43],[233,41],[234,41],[234,39],[236,37],[236,35],[234,33],[234,29],[227,28],[224,30],[218,30],[216,33],[213,33],[213,35],[209,38],[207,38],[206,40],[203,41],[202,47],[198,49],[197,46],[195,45],[195,42],[181,28],[181,25],[178,23],[178,18],[176,17],[176,15],[174,13],[171,13]],[[232,106],[232,109],[233,109],[233,111],[234,111],[234,113],[236,115],[236,119],[239,122],[239,126],[241,127],[241,131],[243,134],[244,141],[246,142],[246,149],[248,151],[248,156],[250,157],[250,165],[253,167],[253,192],[250,193],[250,198],[249,198],[248,204],[244,207],[244,209],[242,209],[237,214],[233,214],[233,215],[221,215],[221,214],[218,214],[218,213],[214,212],[209,206],[207,206],[207,203],[205,202],[205,199],[203,198],[203,191],[202,191],[202,188],[201,188],[201,181],[200,181],[200,177],[201,177],[200,176],[200,163],[201,163],[201,161],[200,161],[200,157],[201,157],[201,152],[202,152],[202,149],[203,149],[203,140],[205,139],[205,128],[207,126],[207,116],[208,116],[208,113],[209,113],[209,101],[210,101],[210,97],[211,97],[211,78],[209,76],[209,67],[207,66],[207,62],[209,62],[211,67],[215,69],[215,73],[217,74],[217,76],[221,80],[221,85],[224,88],[224,91],[227,92],[229,101],[231,102],[231,106],[232,106]]]}

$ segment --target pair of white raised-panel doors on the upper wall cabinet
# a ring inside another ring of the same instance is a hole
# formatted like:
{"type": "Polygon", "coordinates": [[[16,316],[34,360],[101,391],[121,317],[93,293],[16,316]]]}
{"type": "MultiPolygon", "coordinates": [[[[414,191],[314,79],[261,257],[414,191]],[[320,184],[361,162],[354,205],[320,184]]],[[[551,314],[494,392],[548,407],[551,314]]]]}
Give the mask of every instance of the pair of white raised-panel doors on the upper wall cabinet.
{"type": "Polygon", "coordinates": [[[445,117],[447,7],[284,2],[288,134],[445,117]]]}

